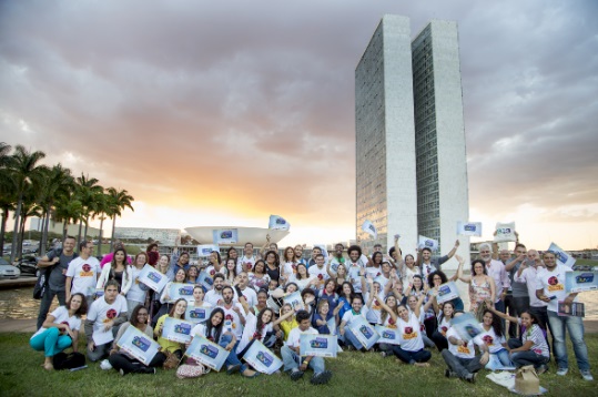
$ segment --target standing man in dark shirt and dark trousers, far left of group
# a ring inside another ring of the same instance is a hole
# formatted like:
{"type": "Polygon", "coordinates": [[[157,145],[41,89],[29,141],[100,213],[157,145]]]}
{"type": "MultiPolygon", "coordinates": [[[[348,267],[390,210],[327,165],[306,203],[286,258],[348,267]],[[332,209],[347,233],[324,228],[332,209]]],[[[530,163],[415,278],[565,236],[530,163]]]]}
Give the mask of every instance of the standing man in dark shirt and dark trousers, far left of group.
{"type": "Polygon", "coordinates": [[[45,279],[48,285],[45,286],[44,293],[40,302],[40,314],[38,316],[38,329],[41,328],[50,306],[54,301],[54,296],[58,297],[58,303],[60,306],[67,304],[67,292],[65,292],[65,275],[67,269],[69,268],[69,263],[79,256],[74,253],[74,237],[67,236],[62,248],[55,248],[50,251],[48,255],[43,256],[38,262],[38,267],[41,272],[45,271],[45,279]]]}

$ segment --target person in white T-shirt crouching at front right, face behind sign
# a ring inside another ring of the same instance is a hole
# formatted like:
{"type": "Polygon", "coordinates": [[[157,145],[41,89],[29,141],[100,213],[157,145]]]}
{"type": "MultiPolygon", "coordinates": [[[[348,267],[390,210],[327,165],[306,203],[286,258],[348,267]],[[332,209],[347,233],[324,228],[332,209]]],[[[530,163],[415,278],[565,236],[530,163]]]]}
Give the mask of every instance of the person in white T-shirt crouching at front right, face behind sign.
{"type": "MultiPolygon", "coordinates": [[[[455,312],[454,318],[462,314],[463,312],[455,312]]],[[[488,347],[484,344],[482,338],[476,338],[475,344],[478,345],[482,352],[484,352],[476,356],[474,339],[470,339],[469,342],[463,340],[455,327],[448,328],[446,332],[446,339],[448,340],[448,348],[440,353],[448,366],[445,376],[447,378],[459,377],[463,380],[474,383],[476,380],[476,373],[484,368],[490,358],[488,347]]]]}

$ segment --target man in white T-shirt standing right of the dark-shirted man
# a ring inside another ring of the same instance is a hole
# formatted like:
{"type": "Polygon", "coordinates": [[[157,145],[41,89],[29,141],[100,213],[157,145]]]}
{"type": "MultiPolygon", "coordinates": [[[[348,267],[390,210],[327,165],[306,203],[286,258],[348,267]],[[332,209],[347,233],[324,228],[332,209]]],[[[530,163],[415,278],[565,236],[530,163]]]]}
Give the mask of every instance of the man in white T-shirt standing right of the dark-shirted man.
{"type": "Polygon", "coordinates": [[[100,262],[91,256],[92,252],[92,242],[81,242],[79,244],[79,257],[69,263],[64,285],[67,288],[67,301],[71,298],[72,294],[80,293],[88,299],[88,307],[93,303],[98,273],[100,272],[100,262]]]}

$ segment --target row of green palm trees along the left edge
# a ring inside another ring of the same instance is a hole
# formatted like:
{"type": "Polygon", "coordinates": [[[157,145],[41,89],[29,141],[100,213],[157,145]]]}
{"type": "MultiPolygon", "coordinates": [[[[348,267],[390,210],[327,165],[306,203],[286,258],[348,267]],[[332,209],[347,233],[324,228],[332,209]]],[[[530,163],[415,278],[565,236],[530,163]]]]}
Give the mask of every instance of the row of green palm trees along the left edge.
{"type": "MultiPolygon", "coordinates": [[[[133,196],[125,190],[103,187],[95,177],[81,173],[73,176],[71,170],[58,163],[41,164],[45,153],[29,151],[22,145],[14,150],[0,142],[0,248],[4,250],[4,234],[9,212],[14,213],[14,227],[10,261],[21,256],[24,224],[28,217],[42,220],[40,255],[45,254],[50,221],[62,223],[62,241],[70,224],[79,223],[78,241],[87,240],[89,222],[100,220],[99,250],[101,252],[102,227],[112,220],[112,236],[116,217],[124,208],[133,210],[133,196]],[[83,227],[84,225],[84,227],[83,227]]],[[[110,242],[112,250],[113,238],[110,242]]]]}

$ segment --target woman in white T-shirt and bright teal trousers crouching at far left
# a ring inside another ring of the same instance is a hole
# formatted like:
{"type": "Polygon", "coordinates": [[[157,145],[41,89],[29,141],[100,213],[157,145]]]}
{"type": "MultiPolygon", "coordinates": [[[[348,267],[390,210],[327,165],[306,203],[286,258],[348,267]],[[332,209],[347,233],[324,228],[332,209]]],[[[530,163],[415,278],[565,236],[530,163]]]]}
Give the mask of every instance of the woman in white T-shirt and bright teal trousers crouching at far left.
{"type": "Polygon", "coordinates": [[[81,293],[71,295],[67,306],[59,306],[50,313],[42,326],[29,340],[31,347],[45,355],[43,368],[54,369],[52,358],[67,347],[77,352],[81,316],[88,313],[88,302],[81,293]]]}

